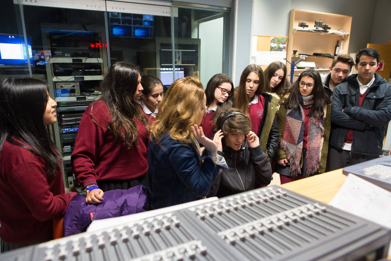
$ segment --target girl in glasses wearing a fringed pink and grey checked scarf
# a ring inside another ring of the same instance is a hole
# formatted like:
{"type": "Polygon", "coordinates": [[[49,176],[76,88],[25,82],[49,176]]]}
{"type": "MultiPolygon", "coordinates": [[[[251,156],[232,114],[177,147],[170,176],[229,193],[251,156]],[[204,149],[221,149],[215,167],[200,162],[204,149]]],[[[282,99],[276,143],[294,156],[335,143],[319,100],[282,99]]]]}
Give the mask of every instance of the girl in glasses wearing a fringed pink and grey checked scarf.
{"type": "Polygon", "coordinates": [[[278,111],[277,163],[281,184],[325,172],[331,103],[316,70],[302,72],[278,111]]]}

